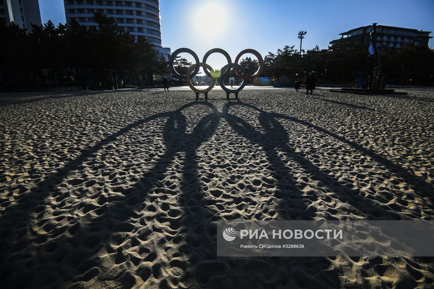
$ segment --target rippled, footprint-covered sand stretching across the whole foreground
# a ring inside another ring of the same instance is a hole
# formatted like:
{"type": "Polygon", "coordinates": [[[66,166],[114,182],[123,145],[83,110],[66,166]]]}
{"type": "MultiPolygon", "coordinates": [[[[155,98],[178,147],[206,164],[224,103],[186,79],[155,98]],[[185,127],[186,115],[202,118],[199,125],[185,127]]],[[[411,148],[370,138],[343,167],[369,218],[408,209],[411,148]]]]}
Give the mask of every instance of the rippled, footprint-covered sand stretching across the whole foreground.
{"type": "Polygon", "coordinates": [[[216,256],[216,220],[432,220],[406,91],[1,93],[0,288],[432,288],[434,258],[216,256]]]}

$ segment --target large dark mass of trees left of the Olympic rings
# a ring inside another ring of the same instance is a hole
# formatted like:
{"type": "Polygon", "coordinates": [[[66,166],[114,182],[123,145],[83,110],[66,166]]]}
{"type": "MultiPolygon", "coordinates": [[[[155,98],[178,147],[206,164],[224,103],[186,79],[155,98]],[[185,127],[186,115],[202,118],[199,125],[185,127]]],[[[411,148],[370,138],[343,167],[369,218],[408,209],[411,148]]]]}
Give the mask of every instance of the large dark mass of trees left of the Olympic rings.
{"type": "Polygon", "coordinates": [[[168,73],[168,62],[144,36],[134,36],[113,17],[94,14],[96,26],[51,21],[21,29],[0,25],[0,85],[3,88],[89,86],[111,88],[168,73]]]}

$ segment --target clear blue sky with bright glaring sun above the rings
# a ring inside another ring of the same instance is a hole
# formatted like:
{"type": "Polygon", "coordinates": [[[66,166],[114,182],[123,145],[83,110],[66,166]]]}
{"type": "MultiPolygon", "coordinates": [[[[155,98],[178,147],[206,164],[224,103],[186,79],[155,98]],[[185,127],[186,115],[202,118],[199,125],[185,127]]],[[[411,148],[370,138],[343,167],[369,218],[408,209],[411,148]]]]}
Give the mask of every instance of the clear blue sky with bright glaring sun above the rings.
{"type": "MultiPolygon", "coordinates": [[[[39,5],[43,22],[65,22],[63,0],[39,5]]],[[[325,49],[339,33],[374,22],[434,31],[434,0],[160,0],[160,14],[163,46],[191,48],[199,59],[211,48],[225,49],[232,60],[246,48],[262,56],[285,45],[299,49],[300,30],[307,31],[303,49],[325,49]]],[[[207,63],[217,68],[225,61],[214,53],[207,63]]]]}

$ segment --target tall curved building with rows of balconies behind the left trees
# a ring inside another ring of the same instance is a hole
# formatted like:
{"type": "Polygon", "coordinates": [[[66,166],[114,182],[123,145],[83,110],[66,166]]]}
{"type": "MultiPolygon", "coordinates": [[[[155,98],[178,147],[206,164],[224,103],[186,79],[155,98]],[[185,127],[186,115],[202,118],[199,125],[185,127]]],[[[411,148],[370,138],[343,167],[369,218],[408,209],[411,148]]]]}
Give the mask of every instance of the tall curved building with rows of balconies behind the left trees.
{"type": "Polygon", "coordinates": [[[146,36],[168,57],[170,48],[161,45],[160,3],[158,0],[64,0],[66,22],[75,19],[85,26],[96,26],[93,14],[100,12],[116,19],[119,26],[135,36],[146,36]]]}

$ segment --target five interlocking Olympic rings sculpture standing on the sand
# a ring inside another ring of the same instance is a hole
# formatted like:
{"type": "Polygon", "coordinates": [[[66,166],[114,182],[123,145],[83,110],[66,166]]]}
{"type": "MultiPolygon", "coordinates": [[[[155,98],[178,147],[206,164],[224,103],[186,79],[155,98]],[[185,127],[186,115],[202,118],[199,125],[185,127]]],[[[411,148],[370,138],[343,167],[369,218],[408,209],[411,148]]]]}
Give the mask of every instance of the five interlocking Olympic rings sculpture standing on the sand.
{"type": "Polygon", "coordinates": [[[235,62],[232,63],[232,60],[230,58],[230,55],[223,49],[221,48],[214,48],[214,49],[210,49],[207,53],[205,53],[204,55],[204,59],[202,60],[202,62],[200,62],[199,57],[197,57],[197,54],[194,53],[193,50],[189,49],[189,48],[179,48],[176,49],[172,55],[170,56],[169,59],[169,67],[170,70],[172,71],[174,77],[178,78],[178,79],[183,79],[183,80],[187,80],[187,84],[188,86],[191,88],[191,90],[193,90],[194,92],[196,92],[196,99],[199,99],[199,93],[204,93],[205,94],[205,99],[208,98],[208,92],[213,89],[214,85],[216,84],[216,80],[219,80],[219,85],[220,87],[226,92],[227,95],[227,99],[229,99],[229,94],[230,93],[234,93],[235,94],[235,99],[238,99],[238,92],[240,92],[244,86],[246,85],[245,81],[246,80],[252,80],[258,76],[260,76],[262,70],[264,69],[264,60],[262,58],[262,56],[260,55],[259,52],[257,52],[254,49],[244,49],[243,51],[241,51],[240,53],[238,53],[237,57],[235,58],[235,62]],[[179,74],[176,69],[173,66],[173,62],[176,58],[176,56],[178,56],[178,54],[180,53],[188,53],[191,54],[191,56],[194,57],[195,60],[195,64],[192,65],[191,67],[188,68],[187,70],[187,76],[183,76],[181,74],[179,74]],[[211,68],[211,66],[209,66],[207,64],[207,59],[208,57],[213,54],[213,53],[221,53],[223,54],[224,57],[226,57],[227,60],[227,64],[225,66],[222,67],[222,69],[220,70],[220,73],[216,73],[214,71],[214,69],[211,68]],[[240,60],[240,57],[243,54],[246,53],[251,53],[254,56],[257,57],[258,61],[259,61],[259,69],[258,71],[256,71],[253,75],[248,76],[246,70],[240,66],[238,64],[238,61],[240,60]],[[197,75],[197,72],[199,72],[199,69],[203,67],[204,68],[204,72],[207,76],[209,76],[212,79],[211,85],[207,88],[207,89],[197,89],[196,87],[193,86],[193,84],[191,83],[191,79],[197,75]],[[240,87],[238,87],[237,89],[229,89],[226,86],[223,85],[223,78],[229,76],[230,73],[230,69],[234,68],[235,69],[235,73],[237,73],[237,76],[239,76],[240,78],[243,79],[243,82],[241,83],[240,87]]]}

